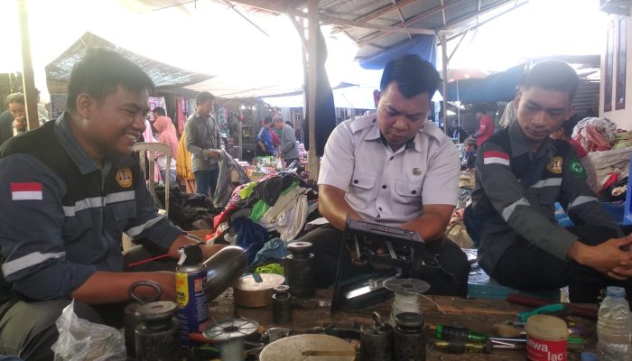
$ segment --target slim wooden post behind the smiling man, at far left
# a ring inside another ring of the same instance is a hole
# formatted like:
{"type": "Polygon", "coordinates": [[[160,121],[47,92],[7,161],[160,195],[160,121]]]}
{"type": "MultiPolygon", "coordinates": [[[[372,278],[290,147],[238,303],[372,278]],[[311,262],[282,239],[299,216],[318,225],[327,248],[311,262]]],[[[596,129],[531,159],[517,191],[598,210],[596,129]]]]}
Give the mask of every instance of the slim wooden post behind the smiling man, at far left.
{"type": "Polygon", "coordinates": [[[19,0],[18,16],[20,19],[20,34],[22,36],[22,83],[24,106],[26,107],[27,129],[33,130],[40,126],[37,114],[37,94],[33,77],[33,61],[31,60],[31,39],[29,38],[29,15],[27,0],[19,0]]]}

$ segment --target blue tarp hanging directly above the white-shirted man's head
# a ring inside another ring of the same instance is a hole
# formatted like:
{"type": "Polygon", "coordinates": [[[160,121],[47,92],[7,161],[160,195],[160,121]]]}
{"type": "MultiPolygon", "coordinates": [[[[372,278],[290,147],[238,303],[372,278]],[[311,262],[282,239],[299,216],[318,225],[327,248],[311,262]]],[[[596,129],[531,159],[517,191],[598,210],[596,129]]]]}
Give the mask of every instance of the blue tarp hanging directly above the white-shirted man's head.
{"type": "Polygon", "coordinates": [[[387,51],[360,60],[360,66],[364,69],[384,69],[386,63],[390,60],[401,58],[406,54],[417,54],[423,60],[427,60],[436,67],[437,65],[437,46],[434,35],[418,35],[413,39],[400,42],[387,51]]]}

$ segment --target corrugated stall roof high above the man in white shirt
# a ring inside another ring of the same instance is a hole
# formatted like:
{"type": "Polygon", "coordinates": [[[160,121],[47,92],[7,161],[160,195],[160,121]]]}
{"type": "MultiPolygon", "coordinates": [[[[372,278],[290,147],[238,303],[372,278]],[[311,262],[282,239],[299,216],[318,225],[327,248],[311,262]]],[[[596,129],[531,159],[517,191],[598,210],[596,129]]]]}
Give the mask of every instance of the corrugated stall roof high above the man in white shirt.
{"type": "MultiPolygon", "coordinates": [[[[368,60],[423,35],[446,34],[449,39],[453,38],[526,2],[528,0],[321,0],[319,19],[323,24],[333,25],[338,32],[347,33],[358,44],[356,58],[368,60]]],[[[174,1],[153,0],[151,3],[166,5],[174,1]]],[[[307,0],[231,0],[229,3],[274,14],[307,15],[307,0]]]]}

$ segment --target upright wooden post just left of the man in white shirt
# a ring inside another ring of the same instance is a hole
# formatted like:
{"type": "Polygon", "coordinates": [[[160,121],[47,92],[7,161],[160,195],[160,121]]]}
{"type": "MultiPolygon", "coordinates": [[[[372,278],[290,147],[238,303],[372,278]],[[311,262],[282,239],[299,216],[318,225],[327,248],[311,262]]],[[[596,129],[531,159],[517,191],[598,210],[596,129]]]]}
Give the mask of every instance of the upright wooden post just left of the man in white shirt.
{"type": "Polygon", "coordinates": [[[311,180],[318,180],[318,173],[321,169],[318,160],[318,154],[316,153],[316,79],[318,79],[318,31],[319,31],[319,12],[318,12],[318,0],[308,0],[307,2],[307,33],[308,33],[308,53],[307,53],[307,66],[308,66],[308,103],[307,111],[309,115],[307,121],[309,124],[309,134],[307,136],[310,139],[310,149],[307,152],[307,171],[310,174],[311,180]]]}

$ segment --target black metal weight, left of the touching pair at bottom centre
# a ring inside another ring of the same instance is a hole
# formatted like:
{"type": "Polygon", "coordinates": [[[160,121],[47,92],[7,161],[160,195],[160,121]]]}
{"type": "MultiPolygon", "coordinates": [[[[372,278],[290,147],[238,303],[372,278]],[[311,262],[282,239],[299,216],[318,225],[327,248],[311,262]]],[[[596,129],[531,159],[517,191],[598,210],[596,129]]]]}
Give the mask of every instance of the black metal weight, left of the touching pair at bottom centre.
{"type": "Polygon", "coordinates": [[[392,361],[393,328],[373,312],[370,325],[360,328],[360,361],[392,361]]]}

